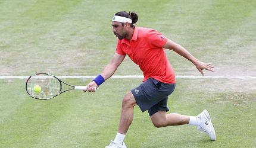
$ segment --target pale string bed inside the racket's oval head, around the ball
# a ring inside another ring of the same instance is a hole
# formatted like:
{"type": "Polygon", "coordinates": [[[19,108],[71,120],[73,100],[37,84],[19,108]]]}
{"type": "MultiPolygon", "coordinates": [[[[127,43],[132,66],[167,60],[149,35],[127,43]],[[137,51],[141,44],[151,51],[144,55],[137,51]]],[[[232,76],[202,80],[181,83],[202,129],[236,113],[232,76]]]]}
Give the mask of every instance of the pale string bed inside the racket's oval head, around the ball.
{"type": "Polygon", "coordinates": [[[27,82],[27,92],[34,98],[49,99],[60,94],[61,85],[58,79],[51,75],[35,75],[27,82]],[[34,87],[39,85],[40,92],[35,92],[34,87]]]}

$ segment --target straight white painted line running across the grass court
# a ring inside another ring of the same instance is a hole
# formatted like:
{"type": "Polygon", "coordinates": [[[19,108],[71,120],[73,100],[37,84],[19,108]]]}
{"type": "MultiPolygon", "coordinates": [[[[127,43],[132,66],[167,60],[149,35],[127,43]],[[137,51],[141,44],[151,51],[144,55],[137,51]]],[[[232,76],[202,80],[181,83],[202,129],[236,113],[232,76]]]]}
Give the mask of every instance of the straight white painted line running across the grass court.
{"type": "MultiPolygon", "coordinates": [[[[96,76],[56,76],[60,79],[93,79],[96,76]]],[[[0,76],[0,79],[27,79],[29,76],[0,76]]],[[[112,76],[111,78],[144,78],[142,75],[112,76]]],[[[256,79],[256,76],[176,76],[190,79],[256,79]]]]}

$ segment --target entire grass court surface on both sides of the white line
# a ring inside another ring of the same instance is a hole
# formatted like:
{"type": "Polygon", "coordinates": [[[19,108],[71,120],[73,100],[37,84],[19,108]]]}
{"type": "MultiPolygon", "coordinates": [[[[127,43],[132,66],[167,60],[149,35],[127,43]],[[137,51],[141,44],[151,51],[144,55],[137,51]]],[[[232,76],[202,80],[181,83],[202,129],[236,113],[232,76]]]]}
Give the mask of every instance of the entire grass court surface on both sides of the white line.
{"type": "MultiPolygon", "coordinates": [[[[98,75],[115,52],[111,18],[135,11],[138,26],[155,28],[211,62],[207,76],[256,76],[255,1],[7,1],[0,0],[0,75],[98,75]]],[[[199,75],[167,51],[176,75],[199,75]]],[[[126,57],[115,75],[142,75],[126,57]]],[[[90,79],[64,79],[86,85],[90,79]]],[[[104,147],[117,133],[124,94],[141,79],[110,79],[95,94],[30,98],[24,79],[0,79],[0,147],[104,147]],[[120,85],[121,84],[121,85],[120,85]]],[[[254,147],[255,79],[177,79],[170,112],[207,108],[217,141],[195,127],[155,128],[135,107],[128,147],[254,147]]]]}

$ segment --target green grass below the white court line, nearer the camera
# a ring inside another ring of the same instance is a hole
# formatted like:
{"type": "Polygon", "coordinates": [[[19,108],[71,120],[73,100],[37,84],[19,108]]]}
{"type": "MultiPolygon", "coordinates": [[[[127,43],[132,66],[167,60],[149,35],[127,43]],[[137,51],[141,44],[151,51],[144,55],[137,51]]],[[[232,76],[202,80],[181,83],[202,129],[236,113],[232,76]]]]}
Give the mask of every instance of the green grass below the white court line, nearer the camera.
{"type": "MultiPolygon", "coordinates": [[[[89,81],[65,80],[82,85],[89,81]]],[[[229,81],[221,81],[228,84],[229,81]]],[[[235,81],[236,82],[236,81],[235,81]]],[[[2,80],[6,94],[1,99],[2,147],[103,147],[117,131],[121,98],[139,79],[110,79],[95,94],[67,92],[48,101],[30,98],[24,81],[2,80]],[[123,83],[122,87],[114,87],[123,83]],[[115,93],[113,94],[113,91],[115,93]]],[[[170,112],[196,115],[204,108],[211,114],[217,141],[199,133],[195,127],[155,128],[135,107],[133,124],[126,137],[129,147],[252,147],[255,145],[256,94],[232,88],[222,91],[214,80],[178,79],[170,96],[170,112]],[[202,88],[202,83],[208,88],[202,88]],[[190,85],[189,85],[190,84],[190,85]],[[193,87],[191,87],[191,84],[193,87]],[[207,85],[206,85],[207,84],[207,85]],[[208,92],[211,90],[210,92],[208,92]]],[[[245,84],[247,82],[244,82],[245,84]]]]}

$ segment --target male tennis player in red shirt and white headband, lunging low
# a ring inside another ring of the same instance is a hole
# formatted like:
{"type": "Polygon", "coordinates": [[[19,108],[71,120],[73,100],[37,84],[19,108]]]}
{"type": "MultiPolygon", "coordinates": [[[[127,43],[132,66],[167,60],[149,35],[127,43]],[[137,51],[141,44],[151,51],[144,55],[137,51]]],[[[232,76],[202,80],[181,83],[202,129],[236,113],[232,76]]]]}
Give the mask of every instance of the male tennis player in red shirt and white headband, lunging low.
{"type": "Polygon", "coordinates": [[[167,60],[164,49],[170,49],[190,60],[204,75],[202,70],[213,72],[210,63],[204,63],[193,57],[186,49],[164,37],[158,31],[135,27],[138,15],[135,12],[117,12],[112,20],[113,33],[118,37],[117,49],[111,62],[88,84],[88,92],[95,92],[101,83],[110,78],[117,67],[123,62],[126,54],[143,72],[143,83],[124,95],[118,133],[107,147],[126,147],[124,137],[133,120],[133,107],[138,105],[143,111],[148,111],[155,127],[177,126],[191,124],[205,131],[211,140],[216,140],[216,134],[207,110],[197,116],[167,114],[168,95],[175,88],[173,68],[167,60]]]}

